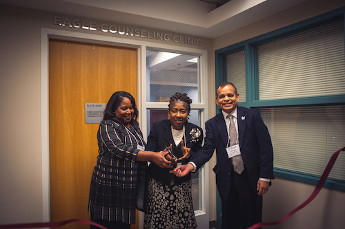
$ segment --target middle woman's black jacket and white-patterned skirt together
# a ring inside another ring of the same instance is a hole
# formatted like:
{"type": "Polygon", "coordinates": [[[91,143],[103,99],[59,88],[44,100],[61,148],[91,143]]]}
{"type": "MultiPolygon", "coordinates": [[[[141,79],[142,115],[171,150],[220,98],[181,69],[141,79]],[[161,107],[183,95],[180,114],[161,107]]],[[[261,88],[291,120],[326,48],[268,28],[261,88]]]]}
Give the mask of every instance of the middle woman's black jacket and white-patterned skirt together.
{"type": "MultiPolygon", "coordinates": [[[[185,123],[184,143],[190,148],[190,157],[181,160],[187,164],[193,155],[201,149],[203,132],[200,127],[189,122],[185,123]]],[[[162,151],[172,144],[172,153],[182,157],[181,143],[175,144],[171,133],[170,120],[155,122],[152,125],[146,149],[162,151]]],[[[197,228],[195,219],[192,181],[190,174],[185,177],[176,177],[169,171],[171,168],[159,168],[154,162],[150,163],[148,173],[148,197],[144,228],[197,228]]]]}

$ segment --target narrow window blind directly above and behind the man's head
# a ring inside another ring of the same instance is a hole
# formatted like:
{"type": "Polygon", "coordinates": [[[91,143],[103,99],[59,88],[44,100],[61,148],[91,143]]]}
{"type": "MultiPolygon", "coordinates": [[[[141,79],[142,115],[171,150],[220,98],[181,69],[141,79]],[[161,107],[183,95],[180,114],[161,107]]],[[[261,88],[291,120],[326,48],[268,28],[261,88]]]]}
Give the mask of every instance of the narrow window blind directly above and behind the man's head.
{"type": "Polygon", "coordinates": [[[226,56],[226,80],[235,85],[240,102],[246,102],[246,62],[244,57],[244,50],[226,56]]]}

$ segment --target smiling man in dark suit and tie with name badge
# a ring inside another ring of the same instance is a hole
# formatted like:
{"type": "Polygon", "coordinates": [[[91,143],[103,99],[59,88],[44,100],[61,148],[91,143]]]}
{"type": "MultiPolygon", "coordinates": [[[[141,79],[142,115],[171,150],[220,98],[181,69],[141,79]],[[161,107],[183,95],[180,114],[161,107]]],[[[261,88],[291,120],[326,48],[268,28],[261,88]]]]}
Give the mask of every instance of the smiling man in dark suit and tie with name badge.
{"type": "Polygon", "coordinates": [[[216,149],[213,171],[221,197],[222,228],[244,229],[262,221],[262,195],[274,179],[273,147],[259,111],[237,107],[235,85],[221,83],[216,102],[221,113],[206,122],[204,146],[191,162],[171,172],[184,176],[196,171],[216,149]]]}

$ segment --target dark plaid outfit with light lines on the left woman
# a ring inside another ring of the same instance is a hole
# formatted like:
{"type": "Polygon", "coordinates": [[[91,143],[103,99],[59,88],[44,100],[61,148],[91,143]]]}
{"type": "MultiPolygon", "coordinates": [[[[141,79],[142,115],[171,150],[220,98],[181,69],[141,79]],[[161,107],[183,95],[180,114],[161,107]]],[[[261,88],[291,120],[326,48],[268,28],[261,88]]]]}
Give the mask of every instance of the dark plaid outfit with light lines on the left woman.
{"type": "Polygon", "coordinates": [[[144,209],[147,162],[137,162],[137,145],[145,146],[138,125],[124,127],[104,120],[97,133],[99,155],[92,173],[88,211],[96,219],[135,223],[144,209]]]}

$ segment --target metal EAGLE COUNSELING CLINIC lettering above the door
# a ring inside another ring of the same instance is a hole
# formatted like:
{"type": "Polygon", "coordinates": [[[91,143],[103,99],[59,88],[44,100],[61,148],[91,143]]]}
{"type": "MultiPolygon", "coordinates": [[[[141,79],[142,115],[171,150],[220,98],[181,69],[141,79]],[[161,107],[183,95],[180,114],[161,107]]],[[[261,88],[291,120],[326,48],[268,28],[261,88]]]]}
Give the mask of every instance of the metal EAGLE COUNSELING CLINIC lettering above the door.
{"type": "Polygon", "coordinates": [[[101,25],[97,25],[95,21],[86,21],[81,19],[70,19],[68,17],[62,18],[59,16],[54,17],[54,24],[60,26],[66,26],[70,28],[81,28],[83,30],[91,30],[97,31],[101,30],[102,32],[109,32],[111,34],[120,34],[124,36],[136,36],[143,39],[152,39],[152,40],[160,40],[160,41],[174,41],[175,43],[181,43],[186,45],[197,45],[201,46],[201,39],[195,39],[193,37],[188,36],[179,36],[174,35],[170,36],[168,33],[163,32],[155,32],[151,30],[141,30],[138,28],[130,28],[121,25],[114,25],[108,23],[101,23],[101,25]]]}

